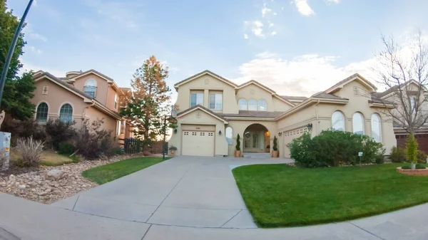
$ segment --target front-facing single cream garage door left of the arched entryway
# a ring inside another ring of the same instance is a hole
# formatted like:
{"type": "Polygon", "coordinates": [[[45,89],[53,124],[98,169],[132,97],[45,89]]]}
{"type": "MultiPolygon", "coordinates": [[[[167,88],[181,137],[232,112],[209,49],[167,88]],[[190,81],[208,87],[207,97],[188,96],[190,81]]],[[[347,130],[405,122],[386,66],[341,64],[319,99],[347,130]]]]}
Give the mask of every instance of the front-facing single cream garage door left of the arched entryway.
{"type": "Polygon", "coordinates": [[[214,132],[183,131],[181,155],[214,156],[214,132]]]}

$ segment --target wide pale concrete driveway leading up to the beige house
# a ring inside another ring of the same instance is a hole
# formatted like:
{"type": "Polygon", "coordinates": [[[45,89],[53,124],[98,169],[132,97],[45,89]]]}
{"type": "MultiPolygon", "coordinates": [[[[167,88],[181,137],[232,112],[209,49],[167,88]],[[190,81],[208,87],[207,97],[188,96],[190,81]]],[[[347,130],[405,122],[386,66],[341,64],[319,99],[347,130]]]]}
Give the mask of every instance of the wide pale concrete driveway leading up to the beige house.
{"type": "Polygon", "coordinates": [[[54,206],[148,224],[256,228],[231,168],[287,159],[175,157],[54,206]]]}

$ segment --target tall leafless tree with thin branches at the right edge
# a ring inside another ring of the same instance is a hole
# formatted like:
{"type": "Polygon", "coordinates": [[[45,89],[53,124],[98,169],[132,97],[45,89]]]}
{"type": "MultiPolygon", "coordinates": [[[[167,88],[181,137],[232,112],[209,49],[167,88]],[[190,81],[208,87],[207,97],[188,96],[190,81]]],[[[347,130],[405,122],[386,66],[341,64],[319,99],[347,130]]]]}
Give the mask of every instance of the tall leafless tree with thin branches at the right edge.
{"type": "Polygon", "coordinates": [[[422,33],[417,31],[410,45],[402,48],[392,37],[381,36],[384,49],[377,53],[377,82],[389,88],[377,95],[385,112],[403,130],[413,133],[428,120],[426,99],[428,83],[428,47],[422,33]]]}

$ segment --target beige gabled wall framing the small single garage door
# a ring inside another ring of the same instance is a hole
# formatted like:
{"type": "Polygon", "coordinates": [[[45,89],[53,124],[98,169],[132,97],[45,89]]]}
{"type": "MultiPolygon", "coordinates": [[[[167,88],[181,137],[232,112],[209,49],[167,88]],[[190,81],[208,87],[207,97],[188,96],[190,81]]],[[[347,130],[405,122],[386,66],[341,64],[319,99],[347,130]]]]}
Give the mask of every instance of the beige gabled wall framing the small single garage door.
{"type": "MultiPolygon", "coordinates": [[[[182,129],[181,125],[214,125],[215,126],[215,147],[214,147],[214,155],[223,156],[228,155],[228,142],[226,142],[225,138],[225,124],[223,121],[214,118],[211,115],[203,112],[202,110],[195,110],[192,113],[188,113],[182,118],[178,118],[178,127],[177,133],[173,133],[169,140],[169,146],[173,145],[178,148],[175,152],[175,155],[181,155],[182,147],[181,137],[182,137],[182,129]],[[200,113],[200,118],[198,118],[198,113],[200,113]],[[218,135],[218,132],[221,131],[222,135],[218,135]]],[[[187,126],[188,127],[188,126],[187,126]]]]}

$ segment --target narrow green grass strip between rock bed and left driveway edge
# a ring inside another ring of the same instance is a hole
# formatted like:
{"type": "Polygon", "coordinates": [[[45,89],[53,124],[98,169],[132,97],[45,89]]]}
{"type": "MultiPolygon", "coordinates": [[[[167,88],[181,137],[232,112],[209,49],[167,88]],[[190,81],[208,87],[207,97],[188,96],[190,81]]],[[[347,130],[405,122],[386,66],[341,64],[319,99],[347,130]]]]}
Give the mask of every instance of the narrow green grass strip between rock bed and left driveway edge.
{"type": "Polygon", "coordinates": [[[162,157],[138,157],[119,162],[113,162],[108,165],[93,167],[82,172],[82,176],[98,184],[105,184],[120,177],[137,172],[156,163],[162,162],[162,157]]]}

